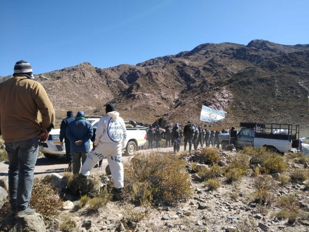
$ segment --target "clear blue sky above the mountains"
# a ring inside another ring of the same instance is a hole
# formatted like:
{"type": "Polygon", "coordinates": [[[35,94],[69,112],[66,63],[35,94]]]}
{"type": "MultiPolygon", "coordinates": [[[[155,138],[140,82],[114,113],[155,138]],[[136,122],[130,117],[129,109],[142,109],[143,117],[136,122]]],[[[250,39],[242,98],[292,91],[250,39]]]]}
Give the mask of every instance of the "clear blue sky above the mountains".
{"type": "Polygon", "coordinates": [[[308,9],[305,0],[0,0],[0,75],[21,59],[39,74],[135,65],[202,43],[308,44],[308,9]]]}

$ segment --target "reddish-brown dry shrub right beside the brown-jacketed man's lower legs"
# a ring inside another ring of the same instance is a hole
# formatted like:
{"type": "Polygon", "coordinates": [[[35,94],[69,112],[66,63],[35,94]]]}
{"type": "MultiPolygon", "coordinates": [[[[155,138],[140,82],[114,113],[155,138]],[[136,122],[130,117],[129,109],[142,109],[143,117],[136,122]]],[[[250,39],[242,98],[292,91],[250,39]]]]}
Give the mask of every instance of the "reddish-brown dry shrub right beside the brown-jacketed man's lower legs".
{"type": "Polygon", "coordinates": [[[42,179],[34,179],[30,205],[43,217],[55,217],[62,207],[58,189],[42,179]]]}

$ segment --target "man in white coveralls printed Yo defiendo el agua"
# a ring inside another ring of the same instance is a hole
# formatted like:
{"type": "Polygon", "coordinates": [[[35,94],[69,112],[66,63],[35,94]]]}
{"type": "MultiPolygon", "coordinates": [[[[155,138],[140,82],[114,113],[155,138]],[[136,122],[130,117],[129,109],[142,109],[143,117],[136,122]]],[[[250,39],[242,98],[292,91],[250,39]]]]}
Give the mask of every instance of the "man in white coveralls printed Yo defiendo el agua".
{"type": "Polygon", "coordinates": [[[106,114],[100,118],[95,132],[95,142],[87,154],[87,159],[82,166],[81,173],[89,176],[95,164],[107,157],[108,165],[112,173],[115,191],[123,188],[123,164],[121,163],[122,148],[126,140],[125,122],[119,113],[115,111],[115,105],[106,105],[106,114]]]}

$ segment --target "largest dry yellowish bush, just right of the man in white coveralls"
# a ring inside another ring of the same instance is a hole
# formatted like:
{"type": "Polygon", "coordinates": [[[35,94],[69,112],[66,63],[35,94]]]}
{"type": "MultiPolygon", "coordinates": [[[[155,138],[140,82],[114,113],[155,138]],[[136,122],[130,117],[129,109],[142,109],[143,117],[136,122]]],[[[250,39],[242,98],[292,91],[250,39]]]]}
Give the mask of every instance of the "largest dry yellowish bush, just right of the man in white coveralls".
{"type": "Polygon", "coordinates": [[[172,153],[138,153],[125,165],[124,176],[123,195],[129,201],[145,194],[146,199],[152,195],[153,203],[176,205],[179,200],[192,195],[185,161],[172,153]],[[138,194],[139,190],[133,190],[133,184],[138,188],[141,186],[139,183],[144,185],[141,194],[138,194]]]}

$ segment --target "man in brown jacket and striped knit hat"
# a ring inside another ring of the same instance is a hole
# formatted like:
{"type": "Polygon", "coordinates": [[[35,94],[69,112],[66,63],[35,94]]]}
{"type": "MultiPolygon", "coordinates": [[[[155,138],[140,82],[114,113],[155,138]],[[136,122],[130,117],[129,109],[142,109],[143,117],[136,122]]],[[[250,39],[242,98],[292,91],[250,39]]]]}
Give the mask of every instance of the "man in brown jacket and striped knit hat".
{"type": "Polygon", "coordinates": [[[34,165],[39,143],[47,141],[55,123],[55,111],[28,62],[16,62],[13,76],[0,83],[0,135],[9,158],[10,216],[24,217],[35,213],[29,206],[34,165]]]}

